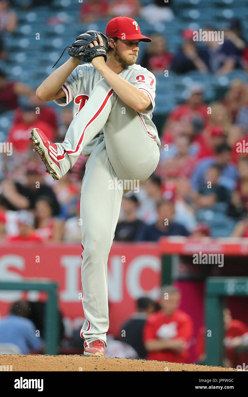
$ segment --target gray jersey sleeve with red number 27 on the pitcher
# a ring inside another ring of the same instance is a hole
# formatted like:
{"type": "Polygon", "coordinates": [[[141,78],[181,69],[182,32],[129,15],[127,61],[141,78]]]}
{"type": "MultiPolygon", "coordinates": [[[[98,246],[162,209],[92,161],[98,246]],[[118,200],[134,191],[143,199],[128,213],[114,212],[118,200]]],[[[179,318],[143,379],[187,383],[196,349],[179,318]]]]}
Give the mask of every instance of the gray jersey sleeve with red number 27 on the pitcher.
{"type": "Polygon", "coordinates": [[[151,104],[141,114],[151,114],[155,106],[156,79],[149,70],[140,70],[134,76],[132,84],[144,91],[151,99],[151,104]]]}

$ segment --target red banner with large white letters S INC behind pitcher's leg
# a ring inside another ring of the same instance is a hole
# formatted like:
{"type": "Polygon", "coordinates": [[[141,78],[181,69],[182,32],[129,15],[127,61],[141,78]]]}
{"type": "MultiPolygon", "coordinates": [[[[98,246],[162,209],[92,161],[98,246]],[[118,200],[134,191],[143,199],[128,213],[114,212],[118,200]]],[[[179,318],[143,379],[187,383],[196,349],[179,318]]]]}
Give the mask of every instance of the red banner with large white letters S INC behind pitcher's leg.
{"type": "MultiPolygon", "coordinates": [[[[30,243],[0,246],[0,280],[48,278],[58,283],[59,305],[66,333],[83,324],[81,304],[81,248],[79,245],[33,245],[30,243]]],[[[116,335],[121,324],[135,311],[141,296],[159,297],[161,260],[155,243],[112,246],[108,260],[108,299],[110,329],[116,335]]],[[[10,303],[21,298],[44,299],[37,291],[0,291],[0,316],[8,313],[10,303]]]]}

